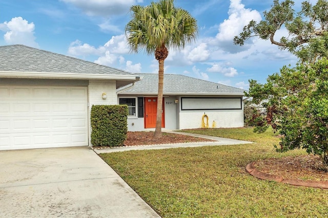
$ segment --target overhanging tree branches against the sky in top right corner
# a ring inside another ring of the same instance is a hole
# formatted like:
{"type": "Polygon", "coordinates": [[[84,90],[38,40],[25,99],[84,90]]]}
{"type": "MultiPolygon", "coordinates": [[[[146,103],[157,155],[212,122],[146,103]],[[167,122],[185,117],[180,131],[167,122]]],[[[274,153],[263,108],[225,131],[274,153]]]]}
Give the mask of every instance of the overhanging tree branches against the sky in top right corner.
{"type": "Polygon", "coordinates": [[[293,9],[294,2],[285,0],[273,1],[272,8],[264,11],[264,20],[259,23],[252,20],[243,28],[234,43],[242,46],[251,37],[270,40],[280,49],[287,49],[302,62],[315,62],[328,57],[328,1],[318,0],[315,5],[302,3],[298,13],[293,9]],[[275,39],[276,32],[285,27],[288,35],[275,39]]]}

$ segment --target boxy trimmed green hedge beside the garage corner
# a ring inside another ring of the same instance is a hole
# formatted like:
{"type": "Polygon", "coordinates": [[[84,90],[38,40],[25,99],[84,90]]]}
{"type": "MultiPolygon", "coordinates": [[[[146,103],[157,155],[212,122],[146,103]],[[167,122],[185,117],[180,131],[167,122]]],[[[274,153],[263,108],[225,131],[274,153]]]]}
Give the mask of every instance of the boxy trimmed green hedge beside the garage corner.
{"type": "Polygon", "coordinates": [[[127,105],[92,105],[91,144],[93,146],[122,146],[127,139],[127,105]]]}

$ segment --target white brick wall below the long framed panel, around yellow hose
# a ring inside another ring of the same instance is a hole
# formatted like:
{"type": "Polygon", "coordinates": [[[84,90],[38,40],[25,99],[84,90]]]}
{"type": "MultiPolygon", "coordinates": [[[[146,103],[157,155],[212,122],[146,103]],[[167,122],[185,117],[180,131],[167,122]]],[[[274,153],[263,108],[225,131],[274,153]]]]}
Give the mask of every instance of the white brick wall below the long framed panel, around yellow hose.
{"type": "MultiPolygon", "coordinates": [[[[243,112],[242,111],[221,111],[221,112],[205,112],[209,117],[210,128],[234,128],[242,127],[243,112]]],[[[179,117],[179,129],[201,128],[202,116],[204,112],[183,112],[179,117]]],[[[206,122],[206,118],[204,120],[206,122]]]]}

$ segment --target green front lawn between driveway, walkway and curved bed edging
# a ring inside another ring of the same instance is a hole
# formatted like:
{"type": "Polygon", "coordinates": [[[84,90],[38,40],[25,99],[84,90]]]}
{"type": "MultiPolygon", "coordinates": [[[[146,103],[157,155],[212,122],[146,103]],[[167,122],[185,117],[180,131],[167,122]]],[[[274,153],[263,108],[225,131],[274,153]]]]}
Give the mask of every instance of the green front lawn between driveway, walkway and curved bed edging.
{"type": "Polygon", "coordinates": [[[185,130],[254,144],[101,154],[162,217],[328,217],[328,190],[258,180],[255,160],[305,154],[275,152],[279,139],[251,128],[185,130]]]}

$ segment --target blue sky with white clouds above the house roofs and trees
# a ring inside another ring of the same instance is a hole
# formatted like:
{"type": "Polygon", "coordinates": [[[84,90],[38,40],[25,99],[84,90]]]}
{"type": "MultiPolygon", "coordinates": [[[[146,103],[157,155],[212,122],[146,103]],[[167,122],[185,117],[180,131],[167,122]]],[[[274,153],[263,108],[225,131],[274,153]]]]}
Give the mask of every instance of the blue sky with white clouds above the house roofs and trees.
{"type": "MultiPolygon", "coordinates": [[[[148,0],[8,0],[0,2],[0,46],[23,44],[133,73],[157,73],[158,62],[144,51],[130,53],[124,32],[132,5],[148,0]]],[[[300,8],[296,0],[295,8],[300,8]]],[[[315,3],[316,1],[310,1],[315,3]]],[[[269,41],[252,38],[244,47],[233,37],[252,19],[260,21],[273,1],[175,0],[197,20],[197,40],[169,50],[165,73],[248,89],[248,80],[268,75],[296,58],[269,41]]],[[[281,30],[277,36],[285,35],[281,30]]],[[[277,38],[278,39],[278,38],[277,38]]]]}

